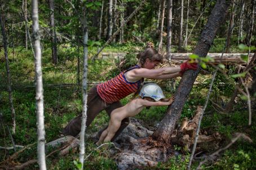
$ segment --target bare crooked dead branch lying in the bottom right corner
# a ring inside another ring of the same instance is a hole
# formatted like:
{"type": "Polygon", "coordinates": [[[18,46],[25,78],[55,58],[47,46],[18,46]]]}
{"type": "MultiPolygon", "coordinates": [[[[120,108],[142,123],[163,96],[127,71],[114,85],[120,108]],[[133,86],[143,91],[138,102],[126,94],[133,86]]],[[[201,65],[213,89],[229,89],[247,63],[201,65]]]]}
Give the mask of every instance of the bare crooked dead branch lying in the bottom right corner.
{"type": "Polygon", "coordinates": [[[208,160],[213,161],[214,159],[216,159],[219,155],[220,152],[222,152],[223,150],[228,149],[231,145],[233,145],[238,139],[240,139],[240,137],[244,138],[245,140],[249,141],[250,143],[252,142],[252,140],[250,139],[249,136],[246,136],[245,134],[242,133],[236,133],[235,137],[233,137],[231,139],[231,143],[229,143],[227,146],[225,146],[224,148],[220,148],[217,151],[215,151],[213,154],[209,155],[208,157],[205,158],[205,160],[201,161],[198,165],[198,167],[196,169],[200,169],[200,167],[202,166],[202,164],[208,162],[208,160]]]}

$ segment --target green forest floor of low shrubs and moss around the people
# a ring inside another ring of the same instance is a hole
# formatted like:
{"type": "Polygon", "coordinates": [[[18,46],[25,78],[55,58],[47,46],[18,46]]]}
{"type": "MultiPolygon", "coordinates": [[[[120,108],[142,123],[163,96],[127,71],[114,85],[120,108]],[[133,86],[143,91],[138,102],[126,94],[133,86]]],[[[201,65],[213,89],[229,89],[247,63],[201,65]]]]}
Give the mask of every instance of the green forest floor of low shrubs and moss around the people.
{"type": "MultiPolygon", "coordinates": [[[[59,52],[60,63],[53,66],[49,50],[43,51],[43,83],[44,88],[44,104],[45,104],[45,131],[46,142],[58,139],[60,131],[65,125],[82,111],[82,94],[80,86],[77,83],[77,50],[70,48],[69,50],[62,49],[59,52]],[[70,86],[47,86],[52,84],[72,84],[70,86]]],[[[117,49],[122,50],[122,49],[117,49]]],[[[8,128],[11,128],[11,112],[8,104],[8,91],[6,88],[6,68],[5,60],[0,58],[0,112],[3,114],[3,119],[0,127],[0,146],[12,146],[11,138],[8,133],[8,128]]],[[[82,61],[82,56],[80,55],[82,61]]],[[[16,166],[25,163],[28,160],[36,159],[36,143],[37,142],[37,126],[36,126],[36,102],[34,85],[34,60],[31,52],[25,52],[25,49],[16,49],[12,54],[9,51],[10,70],[12,77],[13,99],[16,112],[16,134],[12,135],[16,145],[29,146],[22,153],[5,165],[16,166]],[[27,87],[24,87],[27,86],[27,87]]],[[[96,59],[94,63],[89,60],[89,82],[105,81],[111,79],[118,73],[116,62],[113,59],[101,60],[96,59]]],[[[213,71],[213,68],[207,68],[207,71],[213,71]]],[[[236,73],[235,66],[229,66],[226,72],[231,75],[236,73]]],[[[80,71],[80,77],[82,68],[80,71]]],[[[176,79],[176,86],[180,79],[176,79]]],[[[197,77],[197,82],[193,86],[189,98],[184,105],[182,116],[178,125],[184,118],[192,118],[198,105],[204,105],[206,94],[208,92],[211,75],[200,74],[197,77]]],[[[175,89],[171,88],[172,81],[157,81],[166,95],[170,97],[175,89]]],[[[231,113],[222,113],[217,111],[214,103],[220,107],[225,107],[231,97],[235,80],[227,80],[221,73],[217,74],[211,93],[208,108],[205,111],[202,120],[201,131],[208,135],[218,132],[221,135],[220,142],[213,146],[212,143],[205,143],[201,147],[204,149],[204,154],[213,153],[218,148],[226,146],[232,135],[236,132],[241,132],[248,135],[253,143],[245,140],[239,140],[225,150],[215,162],[206,163],[202,169],[256,169],[256,115],[253,110],[252,125],[248,126],[248,106],[246,100],[237,98],[236,104],[233,106],[231,113]]],[[[91,85],[89,85],[89,88],[91,85]]],[[[121,100],[122,104],[129,102],[131,97],[121,100]]],[[[135,116],[136,120],[142,123],[142,126],[148,130],[155,130],[158,122],[165,115],[167,107],[151,107],[149,110],[144,109],[140,114],[135,116]]],[[[99,131],[108,124],[109,117],[104,111],[95,118],[94,122],[87,129],[87,134],[92,134],[99,131]]],[[[111,154],[112,149],[100,148],[96,149],[94,141],[86,141],[86,155],[92,153],[85,161],[85,169],[117,169],[116,160],[111,154]]],[[[169,155],[165,162],[158,162],[151,169],[186,169],[190,152],[183,146],[173,145],[175,154],[169,155]]],[[[18,149],[17,149],[18,150],[18,149]]],[[[20,150],[20,149],[19,149],[20,150]]],[[[54,149],[47,150],[47,153],[54,149]]],[[[3,160],[6,160],[10,155],[14,154],[14,150],[0,151],[0,166],[3,165],[3,160]]],[[[74,160],[78,160],[79,151],[72,151],[67,155],[60,157],[58,152],[47,157],[47,169],[76,169],[74,160]]],[[[193,168],[196,168],[200,160],[193,162],[193,168]]],[[[149,167],[140,167],[140,169],[148,169],[149,167]]],[[[1,168],[0,168],[1,169],[1,168]]],[[[38,164],[34,163],[25,169],[38,169],[38,164]]]]}

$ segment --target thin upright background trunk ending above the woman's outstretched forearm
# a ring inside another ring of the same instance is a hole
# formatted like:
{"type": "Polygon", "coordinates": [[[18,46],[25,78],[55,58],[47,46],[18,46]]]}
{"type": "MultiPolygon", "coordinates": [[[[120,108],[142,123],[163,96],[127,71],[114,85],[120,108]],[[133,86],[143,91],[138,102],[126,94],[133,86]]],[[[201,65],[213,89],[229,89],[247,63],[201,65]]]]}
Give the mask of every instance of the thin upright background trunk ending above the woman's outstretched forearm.
{"type": "Polygon", "coordinates": [[[167,45],[166,45],[166,56],[167,59],[169,59],[169,62],[171,62],[171,23],[173,20],[173,0],[167,1],[167,45]]]}

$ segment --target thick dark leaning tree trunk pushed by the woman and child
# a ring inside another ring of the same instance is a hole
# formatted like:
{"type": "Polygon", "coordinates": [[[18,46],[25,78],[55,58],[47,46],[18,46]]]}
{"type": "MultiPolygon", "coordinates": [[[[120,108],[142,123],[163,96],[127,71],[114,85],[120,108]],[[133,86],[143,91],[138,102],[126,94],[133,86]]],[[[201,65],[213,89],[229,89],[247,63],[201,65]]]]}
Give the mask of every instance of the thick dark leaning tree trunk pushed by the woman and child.
{"type": "MultiPolygon", "coordinates": [[[[224,0],[218,0],[216,2],[196,46],[194,52],[196,55],[200,57],[205,57],[207,55],[217,30],[227,15],[228,7],[229,3],[224,0]]],[[[175,127],[176,121],[180,118],[185,101],[188,98],[188,94],[190,93],[199,72],[200,68],[198,68],[197,71],[188,70],[184,73],[182,80],[179,82],[179,87],[176,90],[176,99],[174,103],[168,107],[165,117],[153,134],[153,137],[156,140],[167,144],[171,142],[171,133],[175,127]]]]}

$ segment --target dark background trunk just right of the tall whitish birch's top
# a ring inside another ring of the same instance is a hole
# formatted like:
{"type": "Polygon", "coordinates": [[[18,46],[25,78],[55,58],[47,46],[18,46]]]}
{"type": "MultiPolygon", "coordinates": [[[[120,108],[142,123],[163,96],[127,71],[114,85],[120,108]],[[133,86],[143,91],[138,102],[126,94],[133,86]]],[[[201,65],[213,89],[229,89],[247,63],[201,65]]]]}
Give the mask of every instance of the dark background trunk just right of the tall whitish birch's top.
{"type": "Polygon", "coordinates": [[[57,40],[56,40],[56,30],[54,22],[54,0],[49,0],[50,5],[50,27],[51,27],[51,56],[52,63],[56,65],[58,63],[57,56],[57,40]]]}

